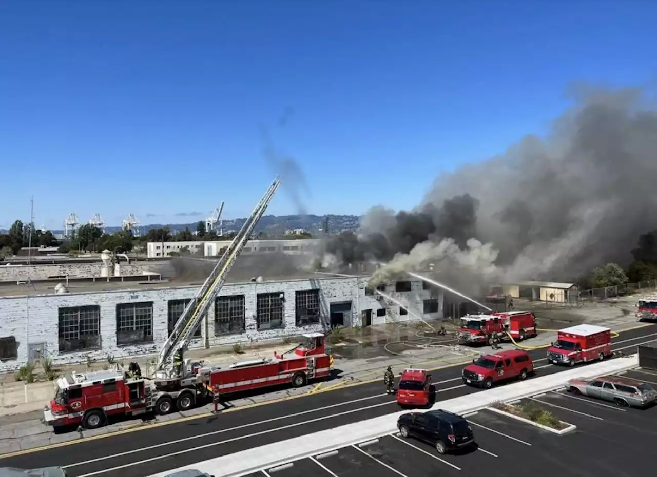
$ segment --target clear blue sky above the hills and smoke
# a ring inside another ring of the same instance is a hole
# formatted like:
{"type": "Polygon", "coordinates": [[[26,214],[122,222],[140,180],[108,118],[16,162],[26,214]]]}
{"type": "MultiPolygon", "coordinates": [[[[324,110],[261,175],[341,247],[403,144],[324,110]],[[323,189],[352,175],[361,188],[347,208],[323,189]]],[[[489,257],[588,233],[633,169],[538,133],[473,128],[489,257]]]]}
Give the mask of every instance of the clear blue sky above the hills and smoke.
{"type": "MultiPolygon", "coordinates": [[[[637,1],[4,0],[0,228],[243,217],[273,178],[309,213],[413,207],[435,176],[543,133],[574,80],[654,79],[637,1]],[[200,213],[181,217],[177,214],[200,213]]],[[[269,213],[297,213],[281,191],[269,213]]]]}

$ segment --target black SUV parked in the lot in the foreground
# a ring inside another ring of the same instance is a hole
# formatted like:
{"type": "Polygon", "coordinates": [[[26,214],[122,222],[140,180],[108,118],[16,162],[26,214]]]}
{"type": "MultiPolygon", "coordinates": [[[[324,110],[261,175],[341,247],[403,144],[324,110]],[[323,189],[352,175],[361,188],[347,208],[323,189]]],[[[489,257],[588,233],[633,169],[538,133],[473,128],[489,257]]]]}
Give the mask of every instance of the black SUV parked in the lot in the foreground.
{"type": "Polygon", "coordinates": [[[463,417],[443,409],[399,416],[397,428],[402,437],[415,437],[432,446],[439,454],[474,444],[472,428],[463,417]]]}

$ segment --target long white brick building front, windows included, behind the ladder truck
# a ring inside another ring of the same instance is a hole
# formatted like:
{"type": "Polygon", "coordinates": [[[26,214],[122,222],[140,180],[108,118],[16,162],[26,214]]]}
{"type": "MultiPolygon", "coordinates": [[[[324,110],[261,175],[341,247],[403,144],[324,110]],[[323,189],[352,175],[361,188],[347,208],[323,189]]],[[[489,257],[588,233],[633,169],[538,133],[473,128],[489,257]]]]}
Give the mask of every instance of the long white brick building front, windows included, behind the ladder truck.
{"type": "MultiPolygon", "coordinates": [[[[190,347],[277,340],[335,325],[442,317],[442,295],[421,281],[381,287],[391,301],[365,289],[367,276],[306,275],[226,283],[190,347]]],[[[172,287],[90,280],[70,283],[70,293],[53,294],[52,285],[34,282],[30,296],[16,296],[18,285],[0,288],[0,371],[41,356],[74,363],[158,353],[198,291],[196,283],[172,287]]]]}

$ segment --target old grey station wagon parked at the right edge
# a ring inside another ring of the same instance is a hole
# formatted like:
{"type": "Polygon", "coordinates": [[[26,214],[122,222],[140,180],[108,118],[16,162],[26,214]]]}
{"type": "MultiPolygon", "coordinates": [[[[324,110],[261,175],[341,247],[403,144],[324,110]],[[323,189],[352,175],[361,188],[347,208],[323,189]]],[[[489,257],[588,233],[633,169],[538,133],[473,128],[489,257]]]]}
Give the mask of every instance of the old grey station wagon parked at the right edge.
{"type": "Polygon", "coordinates": [[[657,391],[650,384],[616,375],[571,379],[566,390],[620,406],[648,407],[657,401],[657,391]]]}

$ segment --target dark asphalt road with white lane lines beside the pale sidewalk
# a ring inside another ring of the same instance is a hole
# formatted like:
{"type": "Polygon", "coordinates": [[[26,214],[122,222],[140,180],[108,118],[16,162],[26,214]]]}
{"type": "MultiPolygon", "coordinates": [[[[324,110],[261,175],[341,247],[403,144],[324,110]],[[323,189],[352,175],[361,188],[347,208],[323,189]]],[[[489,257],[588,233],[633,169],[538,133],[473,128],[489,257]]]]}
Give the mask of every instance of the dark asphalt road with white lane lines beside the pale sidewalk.
{"type": "MultiPolygon", "coordinates": [[[[657,325],[621,333],[620,337],[614,339],[612,349],[630,354],[636,351],[638,344],[647,341],[657,341],[657,325]]],[[[530,345],[531,341],[527,344],[530,345]]],[[[530,354],[538,368],[538,376],[567,369],[547,365],[544,349],[530,354]]],[[[436,386],[436,400],[480,392],[463,385],[461,367],[433,371],[432,376],[436,386]]],[[[388,396],[382,391],[383,383],[352,386],[223,415],[15,455],[0,459],[0,467],[62,465],[72,477],[143,477],[218,455],[397,411],[399,407],[394,396],[388,396]]],[[[378,472],[380,474],[382,472],[378,472]]]]}

